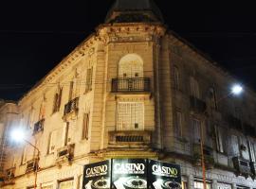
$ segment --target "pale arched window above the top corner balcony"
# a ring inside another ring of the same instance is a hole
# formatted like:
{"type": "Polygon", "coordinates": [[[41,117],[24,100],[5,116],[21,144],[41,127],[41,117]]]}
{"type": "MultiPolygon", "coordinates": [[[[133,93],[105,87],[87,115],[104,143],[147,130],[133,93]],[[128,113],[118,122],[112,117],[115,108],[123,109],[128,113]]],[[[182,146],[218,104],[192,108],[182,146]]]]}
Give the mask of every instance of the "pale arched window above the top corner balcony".
{"type": "Polygon", "coordinates": [[[137,54],[128,54],[119,60],[119,77],[143,77],[143,60],[137,54]]]}

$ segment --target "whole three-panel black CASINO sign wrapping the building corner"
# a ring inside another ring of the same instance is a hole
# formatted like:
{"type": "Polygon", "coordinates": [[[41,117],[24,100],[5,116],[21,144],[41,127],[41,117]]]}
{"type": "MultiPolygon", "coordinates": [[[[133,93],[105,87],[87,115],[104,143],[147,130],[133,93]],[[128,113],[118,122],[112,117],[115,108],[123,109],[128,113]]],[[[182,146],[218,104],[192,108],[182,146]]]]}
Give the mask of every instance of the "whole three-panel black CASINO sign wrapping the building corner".
{"type": "Polygon", "coordinates": [[[181,189],[180,166],[148,159],[84,165],[82,189],[181,189]]]}

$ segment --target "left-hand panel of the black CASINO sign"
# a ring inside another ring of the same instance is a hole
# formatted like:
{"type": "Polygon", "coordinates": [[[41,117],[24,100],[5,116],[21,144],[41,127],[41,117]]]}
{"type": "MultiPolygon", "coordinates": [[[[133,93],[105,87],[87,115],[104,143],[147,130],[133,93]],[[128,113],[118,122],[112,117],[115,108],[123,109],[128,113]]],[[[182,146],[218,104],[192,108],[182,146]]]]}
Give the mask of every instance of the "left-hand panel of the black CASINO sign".
{"type": "Polygon", "coordinates": [[[84,165],[82,189],[110,189],[111,161],[84,165]]]}

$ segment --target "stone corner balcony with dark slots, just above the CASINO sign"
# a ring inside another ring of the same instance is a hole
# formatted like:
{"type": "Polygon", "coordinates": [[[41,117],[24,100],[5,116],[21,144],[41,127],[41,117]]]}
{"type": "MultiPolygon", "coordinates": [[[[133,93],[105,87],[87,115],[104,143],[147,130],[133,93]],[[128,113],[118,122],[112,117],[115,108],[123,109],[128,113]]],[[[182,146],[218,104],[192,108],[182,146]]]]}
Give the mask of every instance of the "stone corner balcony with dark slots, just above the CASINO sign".
{"type": "Polygon", "coordinates": [[[110,131],[108,136],[109,147],[148,147],[151,144],[151,131],[110,131]]]}

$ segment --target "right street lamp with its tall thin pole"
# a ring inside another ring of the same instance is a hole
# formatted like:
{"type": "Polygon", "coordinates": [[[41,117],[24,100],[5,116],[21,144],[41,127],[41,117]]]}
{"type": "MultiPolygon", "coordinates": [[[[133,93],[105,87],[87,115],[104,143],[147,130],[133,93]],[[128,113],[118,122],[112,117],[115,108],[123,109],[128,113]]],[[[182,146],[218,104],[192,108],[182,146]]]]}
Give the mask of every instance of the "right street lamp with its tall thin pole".
{"type": "MultiPolygon", "coordinates": [[[[229,94],[221,97],[219,100],[216,101],[216,104],[218,104],[220,101],[226,99],[229,97],[229,95],[234,94],[234,95],[239,95],[243,93],[243,87],[239,84],[235,84],[232,86],[231,91],[229,94]]],[[[203,115],[205,115],[205,112],[203,112],[203,115]]],[[[202,174],[203,174],[203,184],[204,184],[204,189],[207,189],[207,183],[206,183],[206,165],[205,165],[205,155],[204,155],[204,130],[203,130],[203,125],[205,125],[206,121],[206,116],[204,117],[203,122],[200,124],[200,151],[201,151],[201,165],[202,165],[202,174]]]]}

